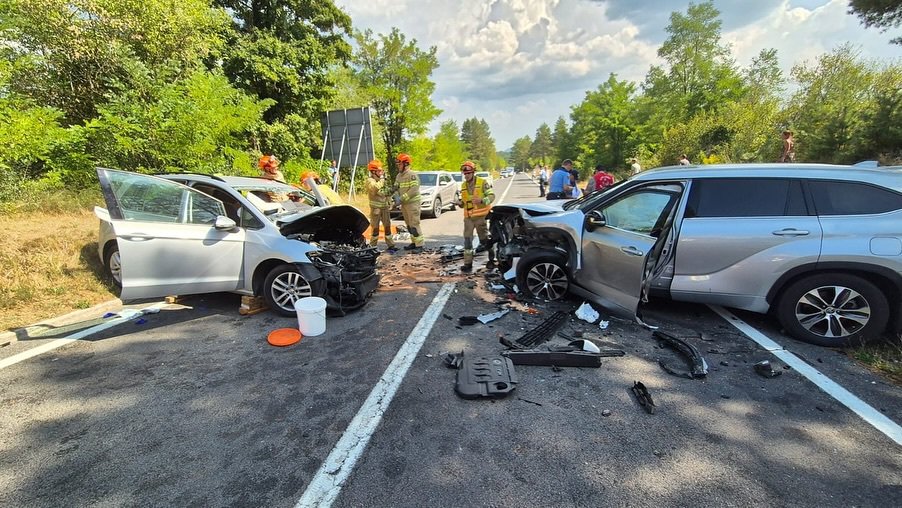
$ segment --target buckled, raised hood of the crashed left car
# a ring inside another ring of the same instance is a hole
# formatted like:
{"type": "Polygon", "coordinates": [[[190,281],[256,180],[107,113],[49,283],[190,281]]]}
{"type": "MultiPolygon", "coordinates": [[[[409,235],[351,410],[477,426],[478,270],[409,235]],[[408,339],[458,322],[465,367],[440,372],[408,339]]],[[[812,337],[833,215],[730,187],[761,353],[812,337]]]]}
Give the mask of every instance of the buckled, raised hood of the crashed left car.
{"type": "Polygon", "coordinates": [[[332,205],[289,215],[276,225],[285,236],[304,234],[313,235],[318,241],[353,243],[370,221],[351,205],[332,205]]]}

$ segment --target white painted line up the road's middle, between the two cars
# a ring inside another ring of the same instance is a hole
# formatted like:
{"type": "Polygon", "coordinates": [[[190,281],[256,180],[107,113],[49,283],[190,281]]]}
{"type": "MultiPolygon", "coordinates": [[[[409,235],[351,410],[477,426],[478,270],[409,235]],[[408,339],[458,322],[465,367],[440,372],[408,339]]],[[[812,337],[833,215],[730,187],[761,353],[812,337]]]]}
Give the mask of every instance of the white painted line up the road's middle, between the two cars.
{"type": "Polygon", "coordinates": [[[388,410],[388,405],[391,404],[398,387],[401,386],[401,381],[404,380],[407,370],[410,369],[453,290],[454,284],[445,284],[435,295],[423,317],[410,332],[398,354],[382,373],[369,397],[360,406],[360,410],[345,429],[341,439],[335,444],[335,448],[310,480],[307,490],[297,502],[298,508],[332,506],[344,482],[354,470],[357,460],[363,455],[370,437],[379,426],[382,415],[388,410]]]}

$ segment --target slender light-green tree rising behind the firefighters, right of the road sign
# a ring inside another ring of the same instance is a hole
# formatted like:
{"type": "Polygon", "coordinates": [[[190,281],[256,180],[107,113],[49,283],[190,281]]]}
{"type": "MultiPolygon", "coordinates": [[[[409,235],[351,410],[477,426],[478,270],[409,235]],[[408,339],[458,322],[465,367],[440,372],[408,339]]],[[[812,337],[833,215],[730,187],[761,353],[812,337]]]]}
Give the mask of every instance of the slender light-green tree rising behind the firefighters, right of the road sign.
{"type": "MultiPolygon", "coordinates": [[[[353,62],[355,76],[375,109],[382,127],[382,140],[389,159],[407,133],[419,134],[441,110],[432,103],[435,83],[430,80],[438,68],[435,46],[423,51],[416,39],[410,41],[397,28],[388,35],[372,30],[355,34],[358,49],[353,62]]],[[[394,178],[395,168],[391,166],[394,178]]]]}

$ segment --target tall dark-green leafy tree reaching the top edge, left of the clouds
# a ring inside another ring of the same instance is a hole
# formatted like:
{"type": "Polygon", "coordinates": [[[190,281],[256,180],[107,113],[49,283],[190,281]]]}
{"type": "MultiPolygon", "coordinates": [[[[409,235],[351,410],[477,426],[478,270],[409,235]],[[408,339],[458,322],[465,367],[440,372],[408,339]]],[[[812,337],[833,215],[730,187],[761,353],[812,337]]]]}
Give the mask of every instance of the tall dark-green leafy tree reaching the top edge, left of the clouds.
{"type": "MultiPolygon", "coordinates": [[[[132,0],[139,1],[139,0],[132,0]]],[[[274,105],[268,122],[296,114],[318,125],[332,95],[329,68],[351,55],[351,18],[333,0],[213,0],[229,12],[222,67],[240,88],[274,105]]]]}

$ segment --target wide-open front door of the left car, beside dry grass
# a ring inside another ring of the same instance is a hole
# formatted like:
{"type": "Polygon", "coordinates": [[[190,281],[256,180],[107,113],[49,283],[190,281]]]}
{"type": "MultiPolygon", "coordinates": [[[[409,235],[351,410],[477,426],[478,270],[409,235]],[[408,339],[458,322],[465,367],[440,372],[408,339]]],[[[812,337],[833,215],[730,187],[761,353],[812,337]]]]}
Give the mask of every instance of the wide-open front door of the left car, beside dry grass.
{"type": "Polygon", "coordinates": [[[122,266],[123,300],[234,291],[244,231],[221,201],[185,185],[97,168],[122,266]]]}

